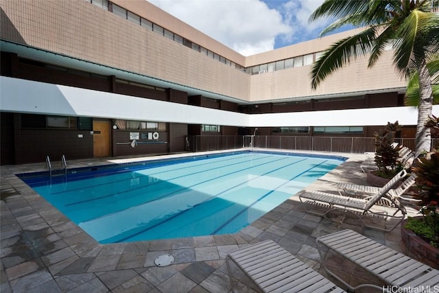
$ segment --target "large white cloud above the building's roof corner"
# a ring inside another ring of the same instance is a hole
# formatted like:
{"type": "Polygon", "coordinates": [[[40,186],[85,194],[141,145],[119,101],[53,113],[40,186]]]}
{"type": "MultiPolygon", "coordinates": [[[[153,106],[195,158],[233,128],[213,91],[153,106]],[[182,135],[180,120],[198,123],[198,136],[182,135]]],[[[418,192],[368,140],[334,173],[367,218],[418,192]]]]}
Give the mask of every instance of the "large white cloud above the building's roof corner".
{"type": "Polygon", "coordinates": [[[274,48],[293,28],[260,0],[148,0],[244,56],[274,48]]]}

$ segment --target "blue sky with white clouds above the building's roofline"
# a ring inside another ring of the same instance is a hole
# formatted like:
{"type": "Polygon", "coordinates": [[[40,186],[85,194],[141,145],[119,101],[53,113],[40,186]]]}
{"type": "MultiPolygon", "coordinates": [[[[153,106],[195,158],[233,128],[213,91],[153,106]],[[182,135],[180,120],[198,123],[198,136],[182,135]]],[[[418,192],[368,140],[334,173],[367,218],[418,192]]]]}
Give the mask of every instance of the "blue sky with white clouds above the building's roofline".
{"type": "Polygon", "coordinates": [[[308,22],[323,0],[147,1],[244,56],[317,38],[331,23],[308,22]]]}

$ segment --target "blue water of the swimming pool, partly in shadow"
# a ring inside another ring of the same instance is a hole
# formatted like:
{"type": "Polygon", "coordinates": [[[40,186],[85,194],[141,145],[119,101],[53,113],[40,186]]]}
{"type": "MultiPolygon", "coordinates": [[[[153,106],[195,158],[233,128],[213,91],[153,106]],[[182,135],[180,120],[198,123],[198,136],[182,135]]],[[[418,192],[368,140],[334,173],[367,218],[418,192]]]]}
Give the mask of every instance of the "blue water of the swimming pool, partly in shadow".
{"type": "Polygon", "coordinates": [[[235,233],[344,158],[233,152],[20,176],[102,244],[235,233]]]}

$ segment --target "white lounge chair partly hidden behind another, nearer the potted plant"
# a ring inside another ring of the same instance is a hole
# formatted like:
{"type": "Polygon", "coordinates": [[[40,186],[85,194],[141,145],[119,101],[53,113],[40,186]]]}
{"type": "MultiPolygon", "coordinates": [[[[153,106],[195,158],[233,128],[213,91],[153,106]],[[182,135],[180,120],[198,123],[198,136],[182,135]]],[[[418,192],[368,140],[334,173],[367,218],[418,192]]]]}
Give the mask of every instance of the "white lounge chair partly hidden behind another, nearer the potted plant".
{"type": "MultiPolygon", "coordinates": [[[[396,189],[390,189],[388,191],[388,196],[393,196],[397,198],[398,200],[404,200],[405,202],[420,202],[420,200],[416,200],[414,198],[407,198],[403,196],[403,194],[410,188],[414,183],[416,182],[416,174],[412,173],[409,178],[405,179],[399,187],[396,187],[396,189]]],[[[340,196],[353,196],[353,197],[360,197],[365,198],[370,196],[371,194],[377,194],[381,191],[383,187],[375,187],[375,186],[369,186],[369,185],[359,185],[354,183],[338,183],[337,185],[340,187],[340,190],[338,193],[340,196]]],[[[388,202],[390,204],[390,200],[384,199],[385,202],[388,202]]],[[[383,203],[383,205],[388,206],[388,204],[383,203]]]]}

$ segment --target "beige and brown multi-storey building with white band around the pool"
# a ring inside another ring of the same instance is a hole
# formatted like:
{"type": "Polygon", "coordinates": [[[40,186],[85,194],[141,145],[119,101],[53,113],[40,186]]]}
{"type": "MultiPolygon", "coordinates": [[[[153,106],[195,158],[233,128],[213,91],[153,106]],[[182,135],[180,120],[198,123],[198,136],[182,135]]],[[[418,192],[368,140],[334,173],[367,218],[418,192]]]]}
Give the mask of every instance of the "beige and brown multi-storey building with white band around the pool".
{"type": "Polygon", "coordinates": [[[2,165],[182,152],[194,136],[372,137],[396,120],[414,137],[391,48],[311,90],[312,63],[355,30],[242,56],[147,1],[0,7],[2,165]]]}

